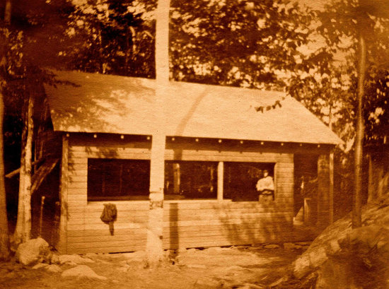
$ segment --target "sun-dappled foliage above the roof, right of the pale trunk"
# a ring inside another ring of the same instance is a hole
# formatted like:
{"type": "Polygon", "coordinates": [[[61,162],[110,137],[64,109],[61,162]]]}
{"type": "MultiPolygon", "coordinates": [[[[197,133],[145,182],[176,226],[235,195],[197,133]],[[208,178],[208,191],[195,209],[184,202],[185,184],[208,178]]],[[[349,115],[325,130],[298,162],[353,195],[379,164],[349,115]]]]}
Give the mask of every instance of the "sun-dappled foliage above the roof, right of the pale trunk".
{"type": "Polygon", "coordinates": [[[173,1],[173,78],[283,89],[288,73],[309,66],[309,13],[285,1],[173,1]]]}

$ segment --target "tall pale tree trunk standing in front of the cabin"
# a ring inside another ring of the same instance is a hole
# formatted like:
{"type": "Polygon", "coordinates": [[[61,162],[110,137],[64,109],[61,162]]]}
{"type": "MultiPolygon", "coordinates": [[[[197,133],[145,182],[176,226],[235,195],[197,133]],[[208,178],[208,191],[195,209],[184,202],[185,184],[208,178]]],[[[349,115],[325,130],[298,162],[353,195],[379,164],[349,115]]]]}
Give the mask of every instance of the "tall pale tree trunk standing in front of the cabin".
{"type": "Polygon", "coordinates": [[[156,131],[151,143],[150,211],[147,228],[146,266],[155,268],[163,259],[163,187],[165,178],[164,99],[169,84],[169,0],[158,1],[156,12],[156,131]]]}

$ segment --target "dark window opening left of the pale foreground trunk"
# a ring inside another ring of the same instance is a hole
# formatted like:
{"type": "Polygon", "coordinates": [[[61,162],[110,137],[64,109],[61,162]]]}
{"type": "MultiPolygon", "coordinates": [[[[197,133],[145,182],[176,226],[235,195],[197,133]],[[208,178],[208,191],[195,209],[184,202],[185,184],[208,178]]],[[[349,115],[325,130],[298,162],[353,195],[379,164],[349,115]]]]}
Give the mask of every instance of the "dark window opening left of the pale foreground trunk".
{"type": "Polygon", "coordinates": [[[88,159],[88,201],[149,199],[150,160],[88,159]]]}

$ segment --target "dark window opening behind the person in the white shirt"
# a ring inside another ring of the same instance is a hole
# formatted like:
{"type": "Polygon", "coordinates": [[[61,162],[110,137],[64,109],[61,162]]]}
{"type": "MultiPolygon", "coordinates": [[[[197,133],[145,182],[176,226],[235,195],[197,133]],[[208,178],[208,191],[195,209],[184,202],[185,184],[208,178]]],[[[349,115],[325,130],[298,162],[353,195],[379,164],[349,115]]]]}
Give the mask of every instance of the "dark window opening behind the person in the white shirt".
{"type": "MultiPolygon", "coordinates": [[[[257,182],[268,175],[274,182],[274,163],[224,163],[223,199],[258,201],[257,182]]],[[[274,197],[274,194],[273,196],[274,197]]]]}

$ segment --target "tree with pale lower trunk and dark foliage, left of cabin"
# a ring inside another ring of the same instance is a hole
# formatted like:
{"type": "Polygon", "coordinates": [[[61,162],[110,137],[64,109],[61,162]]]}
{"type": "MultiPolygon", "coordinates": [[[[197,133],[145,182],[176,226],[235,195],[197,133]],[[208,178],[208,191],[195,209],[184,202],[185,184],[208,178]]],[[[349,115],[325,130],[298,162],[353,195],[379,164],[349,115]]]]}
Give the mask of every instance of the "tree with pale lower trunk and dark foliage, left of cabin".
{"type": "Polygon", "coordinates": [[[6,69],[2,71],[6,83],[6,102],[24,102],[22,114],[21,170],[18,199],[18,221],[15,244],[30,238],[31,231],[31,175],[33,158],[33,106],[35,91],[42,82],[52,81],[52,73],[42,66],[57,64],[67,16],[71,11],[67,0],[37,0],[13,5],[13,21],[9,27],[6,69]],[[45,45],[43,45],[45,43],[45,45]],[[18,95],[18,98],[13,98],[18,95]]]}

